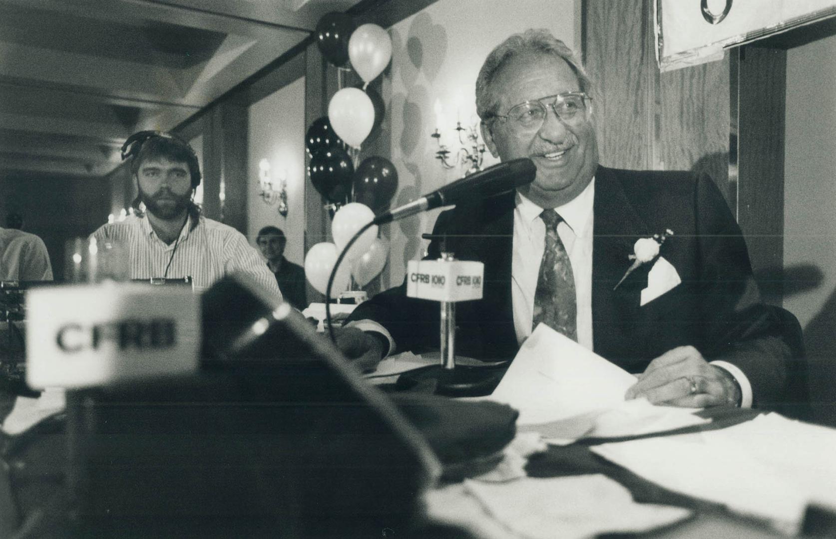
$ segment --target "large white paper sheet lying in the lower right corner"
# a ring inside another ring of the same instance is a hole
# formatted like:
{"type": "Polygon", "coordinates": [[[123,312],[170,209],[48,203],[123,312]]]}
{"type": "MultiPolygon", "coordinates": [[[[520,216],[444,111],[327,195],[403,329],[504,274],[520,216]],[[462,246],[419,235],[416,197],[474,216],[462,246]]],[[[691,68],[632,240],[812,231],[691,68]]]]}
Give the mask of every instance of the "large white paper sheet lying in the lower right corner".
{"type": "Polygon", "coordinates": [[[767,414],[721,430],[593,450],[673,491],[795,533],[809,503],[836,508],[833,448],[836,430],[767,414]]]}

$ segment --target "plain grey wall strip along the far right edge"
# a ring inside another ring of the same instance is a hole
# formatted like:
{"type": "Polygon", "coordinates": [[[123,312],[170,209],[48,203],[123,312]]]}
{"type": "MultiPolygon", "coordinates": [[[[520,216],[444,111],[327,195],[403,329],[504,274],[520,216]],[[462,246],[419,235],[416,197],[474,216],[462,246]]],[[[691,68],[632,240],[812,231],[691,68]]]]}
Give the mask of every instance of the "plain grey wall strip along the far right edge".
{"type": "Polygon", "coordinates": [[[804,328],[815,419],[836,425],[836,36],[788,51],[784,307],[804,328]]]}

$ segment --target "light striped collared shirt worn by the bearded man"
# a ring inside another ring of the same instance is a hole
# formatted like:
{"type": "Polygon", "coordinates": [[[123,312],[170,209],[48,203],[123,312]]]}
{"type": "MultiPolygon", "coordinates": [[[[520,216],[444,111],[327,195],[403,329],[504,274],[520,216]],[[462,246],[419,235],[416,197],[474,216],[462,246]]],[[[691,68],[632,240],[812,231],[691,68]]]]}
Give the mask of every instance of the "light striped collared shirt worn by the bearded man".
{"type": "Polygon", "coordinates": [[[191,277],[195,290],[202,292],[221,277],[242,272],[272,296],[282,297],[276,277],[247,238],[232,226],[203,216],[194,230],[183,226],[171,245],[156,236],[146,216],[108,223],[93,237],[99,242],[119,242],[127,249],[131,279],[191,277]]]}

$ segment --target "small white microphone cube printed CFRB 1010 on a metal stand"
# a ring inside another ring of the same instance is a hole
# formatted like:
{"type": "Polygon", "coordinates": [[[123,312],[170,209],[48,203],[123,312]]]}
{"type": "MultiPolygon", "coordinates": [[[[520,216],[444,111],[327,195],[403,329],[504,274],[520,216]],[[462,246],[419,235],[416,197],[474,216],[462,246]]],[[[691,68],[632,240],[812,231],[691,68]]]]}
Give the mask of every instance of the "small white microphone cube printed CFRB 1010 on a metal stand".
{"type": "Polygon", "coordinates": [[[482,299],[485,265],[461,260],[410,260],[406,295],[436,302],[482,299]]]}

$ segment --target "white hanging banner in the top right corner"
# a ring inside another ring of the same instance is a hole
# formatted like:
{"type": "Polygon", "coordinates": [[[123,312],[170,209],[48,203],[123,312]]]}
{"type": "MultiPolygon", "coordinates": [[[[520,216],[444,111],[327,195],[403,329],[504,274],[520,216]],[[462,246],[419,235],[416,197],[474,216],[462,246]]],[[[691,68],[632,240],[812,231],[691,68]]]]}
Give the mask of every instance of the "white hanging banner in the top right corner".
{"type": "Polygon", "coordinates": [[[655,0],[661,71],[722,58],[723,49],[836,16],[836,0],[655,0]]]}

